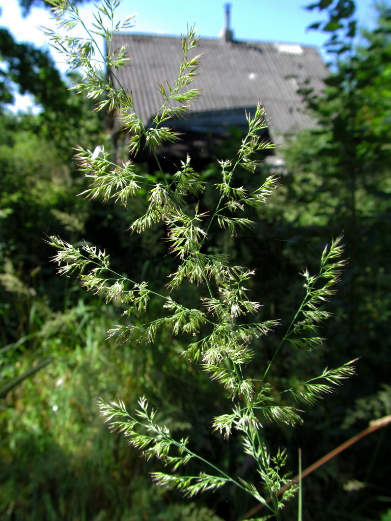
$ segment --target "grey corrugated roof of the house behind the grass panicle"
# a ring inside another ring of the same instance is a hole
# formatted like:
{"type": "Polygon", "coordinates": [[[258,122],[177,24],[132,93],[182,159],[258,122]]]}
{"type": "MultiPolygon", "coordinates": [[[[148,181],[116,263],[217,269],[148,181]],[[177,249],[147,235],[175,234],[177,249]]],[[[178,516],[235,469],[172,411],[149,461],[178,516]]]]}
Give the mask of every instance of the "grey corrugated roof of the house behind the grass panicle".
{"type": "MultiPolygon", "coordinates": [[[[113,46],[126,46],[127,56],[134,58],[116,74],[121,85],[132,92],[134,109],[148,125],[162,104],[157,85],[177,79],[183,58],[180,39],[114,33],[113,46]]],[[[202,95],[193,106],[193,116],[186,117],[188,121],[193,118],[202,126],[210,121],[211,113],[219,111],[238,122],[238,109],[245,121],[244,109],[251,110],[260,101],[274,136],[313,126],[297,90],[306,80],[315,91],[324,87],[327,68],[315,47],[201,39],[195,51],[194,55],[202,53],[202,57],[192,88],[202,89],[202,95]]]]}

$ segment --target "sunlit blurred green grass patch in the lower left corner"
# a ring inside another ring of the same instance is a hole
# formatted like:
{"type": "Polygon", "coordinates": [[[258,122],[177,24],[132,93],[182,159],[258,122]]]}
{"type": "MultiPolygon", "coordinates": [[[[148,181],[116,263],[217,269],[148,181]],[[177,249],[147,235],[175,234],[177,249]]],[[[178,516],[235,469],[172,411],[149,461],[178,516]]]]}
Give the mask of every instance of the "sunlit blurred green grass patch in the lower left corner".
{"type": "Polygon", "coordinates": [[[99,389],[114,397],[118,386],[124,393],[139,386],[134,359],[119,357],[105,341],[111,319],[99,302],[80,301],[45,321],[36,352],[26,349],[26,340],[2,350],[3,382],[36,368],[39,355],[52,359],[1,404],[2,519],[108,520],[130,511],[130,480],[139,464],[102,429],[91,403],[99,389]]]}

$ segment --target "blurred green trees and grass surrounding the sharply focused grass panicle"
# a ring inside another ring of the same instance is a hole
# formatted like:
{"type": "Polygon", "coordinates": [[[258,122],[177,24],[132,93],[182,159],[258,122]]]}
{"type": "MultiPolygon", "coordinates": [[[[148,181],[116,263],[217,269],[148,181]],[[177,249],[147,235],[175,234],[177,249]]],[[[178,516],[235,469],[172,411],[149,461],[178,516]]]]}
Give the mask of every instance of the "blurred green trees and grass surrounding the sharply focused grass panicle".
{"type": "MultiPolygon", "coordinates": [[[[252,291],[273,319],[289,316],[300,300],[298,272],[315,266],[325,242],[345,230],[349,264],[332,302],[327,341],[312,355],[311,367],[299,351],[286,350],[273,378],[293,381],[297,373],[312,375],[326,364],[360,357],[358,375],[309,411],[304,426],[268,433],[275,445],[288,447],[294,474],[299,446],[306,449],[305,467],[371,419],[391,414],[391,12],[388,4],[378,5],[377,27],[358,38],[352,6],[324,1],[312,6],[329,15],[317,28],[330,35],[333,61],[324,95],[313,96],[311,86],[303,85],[320,126],[282,149],[286,172],[262,224],[235,240],[217,238],[237,264],[262,273],[252,291]]],[[[116,305],[103,306],[76,280],[55,276],[46,232],[71,243],[87,238],[112,254],[118,272],[131,266],[162,285],[170,260],[162,258],[158,227],[143,239],[126,232],[141,201],[124,210],[76,197],[86,186],[71,162],[71,147],[92,149],[107,138],[91,104],[67,90],[74,78],[62,79],[47,55],[21,48],[6,30],[0,46],[8,64],[0,85],[0,516],[235,519],[230,491],[196,505],[157,489],[147,474],[149,463],[109,435],[96,414],[96,395],[121,396],[131,408],[145,392],[171,412],[173,429],[197,433],[210,458],[225,458],[233,472],[246,469],[247,462],[204,427],[219,395],[177,357],[181,346],[167,334],[142,352],[114,346],[106,331],[116,320],[116,305]],[[15,83],[36,97],[39,115],[6,110],[15,83]],[[140,253],[148,253],[148,261],[140,253]]],[[[214,173],[211,167],[204,175],[214,173]]],[[[272,356],[272,339],[264,349],[265,358],[272,356]]],[[[388,437],[389,427],[373,433],[304,480],[303,518],[386,521],[388,437]]],[[[295,505],[288,508],[287,519],[295,505]]]]}

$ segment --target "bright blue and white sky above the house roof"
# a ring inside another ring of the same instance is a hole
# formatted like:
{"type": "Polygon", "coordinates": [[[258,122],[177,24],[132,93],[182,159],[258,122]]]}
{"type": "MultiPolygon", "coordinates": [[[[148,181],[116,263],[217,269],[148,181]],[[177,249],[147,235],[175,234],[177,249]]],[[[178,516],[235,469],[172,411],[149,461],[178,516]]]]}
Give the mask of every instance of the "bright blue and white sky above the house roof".
{"type": "MultiPolygon", "coordinates": [[[[230,0],[230,3],[231,29],[238,40],[300,43],[319,48],[326,40],[326,34],[307,30],[324,16],[304,9],[310,0],[230,0]]],[[[118,15],[136,14],[135,27],[131,29],[134,32],[179,35],[186,32],[188,24],[196,23],[201,36],[217,38],[224,26],[224,4],[225,0],[123,0],[118,15]]],[[[360,25],[372,26],[373,0],[356,0],[356,4],[360,25]]],[[[8,27],[18,41],[45,45],[45,38],[36,26],[53,27],[47,10],[33,8],[23,19],[17,0],[0,0],[0,7],[0,25],[8,27]]],[[[92,8],[92,2],[80,7],[85,19],[91,19],[92,8]]]]}

